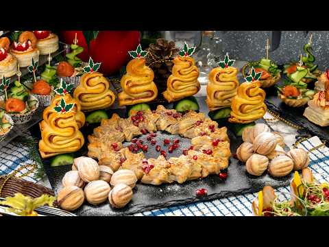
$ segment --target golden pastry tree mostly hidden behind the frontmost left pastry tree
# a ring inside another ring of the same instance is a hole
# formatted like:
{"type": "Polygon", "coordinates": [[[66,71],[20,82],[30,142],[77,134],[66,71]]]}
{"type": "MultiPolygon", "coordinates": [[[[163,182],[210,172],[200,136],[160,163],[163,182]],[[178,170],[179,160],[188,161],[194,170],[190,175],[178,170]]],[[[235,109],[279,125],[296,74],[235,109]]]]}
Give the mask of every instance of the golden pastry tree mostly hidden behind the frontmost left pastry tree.
{"type": "MultiPolygon", "coordinates": [[[[56,95],[55,97],[53,97],[53,100],[51,101],[51,106],[55,107],[55,106],[59,106],[60,105],[60,99],[62,99],[62,95],[56,95]]],[[[84,113],[82,113],[81,111],[81,105],[79,102],[77,102],[76,99],[74,99],[69,93],[66,93],[66,95],[64,95],[64,99],[66,104],[75,104],[73,106],[73,112],[75,112],[75,121],[77,121],[77,127],[81,128],[82,126],[84,126],[84,123],[86,121],[86,117],[84,115],[84,113]]],[[[47,116],[47,112],[44,111],[43,112],[43,119],[45,119],[47,121],[49,116],[47,116]]]]}

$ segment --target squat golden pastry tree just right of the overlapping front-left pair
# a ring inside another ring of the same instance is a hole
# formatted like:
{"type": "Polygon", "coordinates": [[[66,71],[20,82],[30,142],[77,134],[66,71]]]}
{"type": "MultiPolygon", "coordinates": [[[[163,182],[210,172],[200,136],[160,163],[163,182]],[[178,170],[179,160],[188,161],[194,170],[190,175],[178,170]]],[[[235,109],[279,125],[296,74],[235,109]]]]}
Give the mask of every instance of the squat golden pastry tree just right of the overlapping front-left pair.
{"type": "Polygon", "coordinates": [[[82,75],[73,97],[81,104],[82,111],[108,108],[115,101],[110,82],[99,72],[82,75]]]}

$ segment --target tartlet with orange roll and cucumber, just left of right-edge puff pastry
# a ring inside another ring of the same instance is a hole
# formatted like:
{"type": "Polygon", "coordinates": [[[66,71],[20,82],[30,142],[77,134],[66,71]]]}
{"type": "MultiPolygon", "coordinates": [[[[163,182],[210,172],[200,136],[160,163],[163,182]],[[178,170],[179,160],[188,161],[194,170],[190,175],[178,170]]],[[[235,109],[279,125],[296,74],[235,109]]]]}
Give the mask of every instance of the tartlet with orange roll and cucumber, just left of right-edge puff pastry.
{"type": "MultiPolygon", "coordinates": [[[[297,78],[295,78],[295,81],[297,78]]],[[[295,82],[289,78],[284,80],[284,86],[278,86],[278,97],[282,99],[284,104],[291,107],[300,107],[307,104],[310,99],[313,99],[315,91],[307,89],[307,84],[299,81],[295,82]]]]}

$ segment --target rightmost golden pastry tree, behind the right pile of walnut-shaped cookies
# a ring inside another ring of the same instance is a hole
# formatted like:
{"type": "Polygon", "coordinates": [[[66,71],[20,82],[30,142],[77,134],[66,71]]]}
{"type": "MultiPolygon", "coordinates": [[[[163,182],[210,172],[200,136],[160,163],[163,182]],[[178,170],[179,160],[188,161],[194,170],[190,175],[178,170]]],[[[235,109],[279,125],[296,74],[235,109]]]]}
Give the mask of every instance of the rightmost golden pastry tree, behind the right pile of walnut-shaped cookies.
{"type": "Polygon", "coordinates": [[[247,124],[262,118],[267,110],[264,103],[265,91],[260,89],[260,82],[243,82],[238,94],[232,100],[229,119],[232,123],[247,124]]]}

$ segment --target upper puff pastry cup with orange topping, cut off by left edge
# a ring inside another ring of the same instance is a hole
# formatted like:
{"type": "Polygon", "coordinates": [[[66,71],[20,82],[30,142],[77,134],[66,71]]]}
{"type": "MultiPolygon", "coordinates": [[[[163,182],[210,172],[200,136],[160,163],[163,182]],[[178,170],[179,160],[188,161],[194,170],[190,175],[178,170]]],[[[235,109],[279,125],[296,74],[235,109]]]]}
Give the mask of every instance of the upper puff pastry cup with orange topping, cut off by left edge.
{"type": "Polygon", "coordinates": [[[10,40],[7,37],[0,38],[0,78],[8,78],[17,72],[17,60],[8,53],[10,40]]]}

